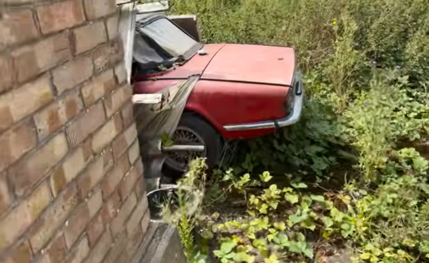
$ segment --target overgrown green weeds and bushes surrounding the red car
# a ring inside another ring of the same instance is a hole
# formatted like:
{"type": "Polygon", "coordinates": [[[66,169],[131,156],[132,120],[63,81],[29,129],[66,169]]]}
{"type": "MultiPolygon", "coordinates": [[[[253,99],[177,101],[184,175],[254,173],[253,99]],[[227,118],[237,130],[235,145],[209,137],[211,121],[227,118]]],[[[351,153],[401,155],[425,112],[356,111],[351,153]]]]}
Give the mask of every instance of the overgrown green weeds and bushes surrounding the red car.
{"type": "Polygon", "coordinates": [[[210,175],[201,212],[175,221],[190,261],[210,244],[222,263],[323,262],[339,249],[429,262],[427,0],[173,4],[209,43],[295,46],[307,91],[298,124],[247,142],[236,167],[210,175]]]}

